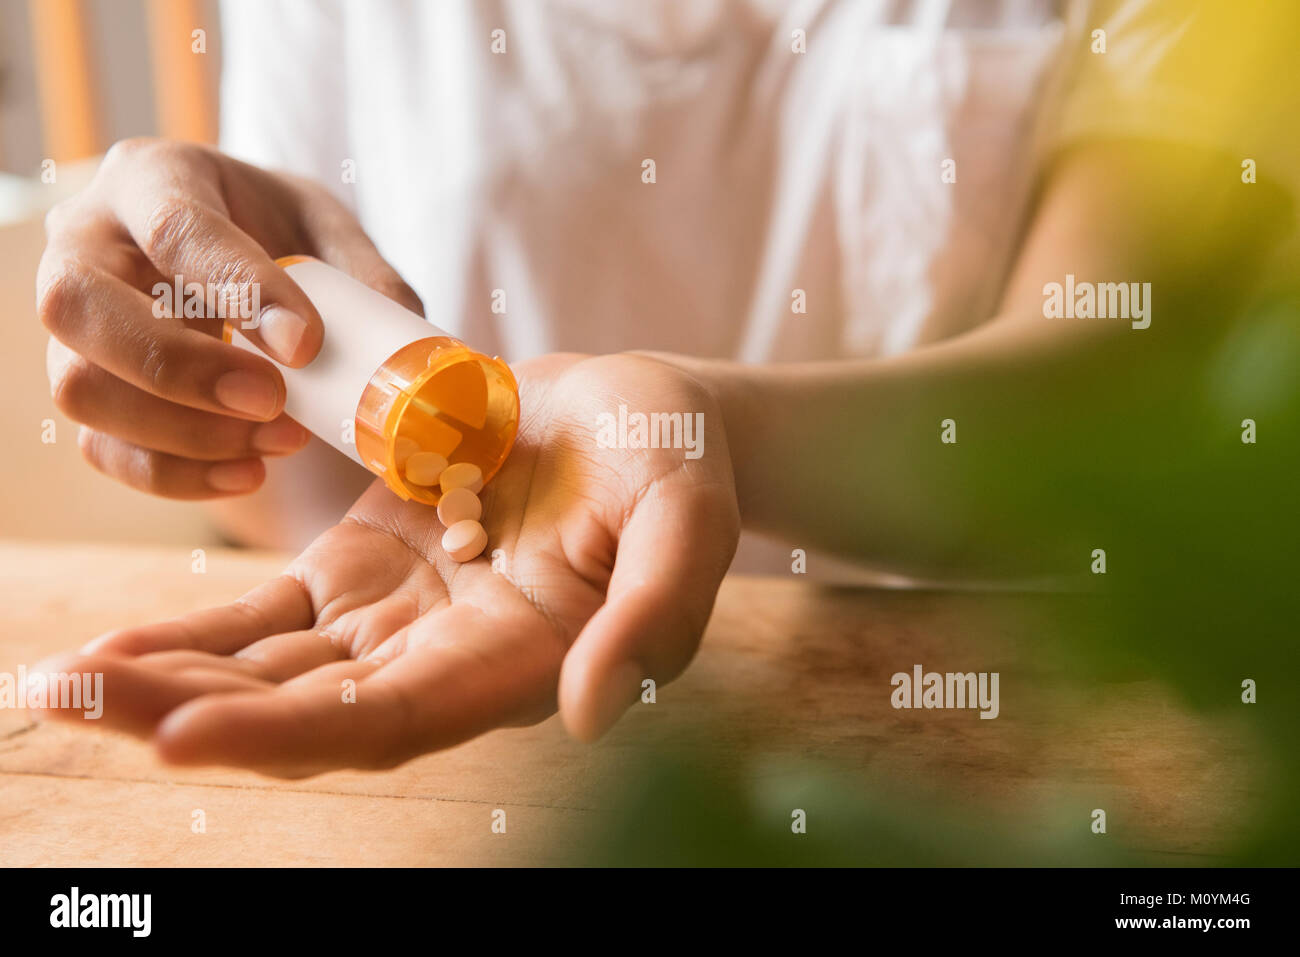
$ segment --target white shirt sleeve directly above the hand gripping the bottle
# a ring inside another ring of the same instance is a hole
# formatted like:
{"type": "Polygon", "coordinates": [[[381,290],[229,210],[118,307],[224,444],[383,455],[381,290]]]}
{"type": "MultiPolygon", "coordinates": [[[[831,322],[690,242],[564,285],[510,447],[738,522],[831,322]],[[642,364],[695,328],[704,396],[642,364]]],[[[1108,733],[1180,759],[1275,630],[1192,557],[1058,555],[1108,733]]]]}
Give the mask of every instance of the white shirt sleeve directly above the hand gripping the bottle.
{"type": "Polygon", "coordinates": [[[334,0],[222,0],[221,148],[347,203],[344,13],[334,0]]]}

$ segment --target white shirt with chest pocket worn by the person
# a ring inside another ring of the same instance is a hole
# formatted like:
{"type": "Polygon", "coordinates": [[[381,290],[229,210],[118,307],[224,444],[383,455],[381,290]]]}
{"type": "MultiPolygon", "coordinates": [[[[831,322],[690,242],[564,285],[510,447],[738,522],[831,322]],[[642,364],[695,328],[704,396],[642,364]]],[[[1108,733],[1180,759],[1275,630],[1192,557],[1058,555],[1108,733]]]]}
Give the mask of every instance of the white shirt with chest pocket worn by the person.
{"type": "Polygon", "coordinates": [[[1044,143],[1171,113],[1195,5],[225,0],[221,138],[507,360],[892,355],[992,315],[1044,143]]]}

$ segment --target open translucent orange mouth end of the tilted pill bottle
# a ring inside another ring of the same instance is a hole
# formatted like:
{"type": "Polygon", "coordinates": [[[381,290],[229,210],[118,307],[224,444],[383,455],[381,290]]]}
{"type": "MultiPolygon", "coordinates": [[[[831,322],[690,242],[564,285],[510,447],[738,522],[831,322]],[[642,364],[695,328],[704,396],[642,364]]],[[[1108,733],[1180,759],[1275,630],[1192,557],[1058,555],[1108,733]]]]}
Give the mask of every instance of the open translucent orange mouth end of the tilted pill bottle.
{"type": "Polygon", "coordinates": [[[438,505],[437,485],[408,482],[398,439],[477,465],[488,482],[519,430],[519,386],[510,367],[436,335],[398,350],[370,377],[356,408],[356,452],[403,501],[438,505]]]}

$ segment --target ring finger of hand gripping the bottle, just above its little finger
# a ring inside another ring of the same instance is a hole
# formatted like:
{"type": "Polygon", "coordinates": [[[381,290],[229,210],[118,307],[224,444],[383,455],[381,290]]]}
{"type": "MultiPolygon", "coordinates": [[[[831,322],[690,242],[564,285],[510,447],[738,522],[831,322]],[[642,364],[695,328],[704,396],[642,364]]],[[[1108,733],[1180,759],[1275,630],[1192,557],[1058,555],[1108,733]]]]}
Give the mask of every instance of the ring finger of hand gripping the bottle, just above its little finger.
{"type": "Polygon", "coordinates": [[[285,415],[251,423],[178,406],[124,382],[58,339],[46,354],[55,406],[75,423],[124,442],[213,462],[298,451],[311,438],[285,415]]]}

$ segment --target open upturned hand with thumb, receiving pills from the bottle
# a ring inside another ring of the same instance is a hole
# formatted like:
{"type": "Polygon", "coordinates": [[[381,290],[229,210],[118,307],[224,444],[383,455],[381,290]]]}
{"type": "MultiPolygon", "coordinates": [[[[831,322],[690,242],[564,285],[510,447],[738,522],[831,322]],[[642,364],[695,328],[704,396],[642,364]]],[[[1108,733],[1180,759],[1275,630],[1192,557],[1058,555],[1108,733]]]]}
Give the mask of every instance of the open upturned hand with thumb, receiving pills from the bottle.
{"type": "MultiPolygon", "coordinates": [[[[653,358],[516,369],[519,442],[484,489],[488,551],[376,481],[239,601],[110,632],[49,670],[103,672],[103,724],[178,763],[302,776],[393,767],[559,706],[608,728],[690,661],[738,534],[722,416],[653,358]],[[703,412],[703,454],[597,443],[602,412],[703,412]]],[[[304,489],[304,494],[311,494],[304,489]]],[[[83,724],[83,722],[78,722],[83,724]]]]}

